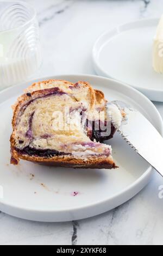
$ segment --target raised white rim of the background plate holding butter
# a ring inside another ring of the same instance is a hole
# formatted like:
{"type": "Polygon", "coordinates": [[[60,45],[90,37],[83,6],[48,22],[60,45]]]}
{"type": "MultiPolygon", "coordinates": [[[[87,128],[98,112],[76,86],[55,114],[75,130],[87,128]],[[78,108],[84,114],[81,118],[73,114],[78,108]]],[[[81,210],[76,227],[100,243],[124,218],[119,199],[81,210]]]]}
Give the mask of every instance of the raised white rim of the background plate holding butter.
{"type": "MultiPolygon", "coordinates": [[[[115,77],[112,77],[99,64],[98,58],[97,58],[97,55],[98,55],[97,52],[99,52],[99,48],[98,48],[99,41],[101,41],[106,35],[110,34],[111,32],[121,31],[121,29],[125,26],[131,26],[131,28],[133,28],[134,25],[139,25],[139,26],[142,25],[143,26],[143,25],[145,25],[145,23],[149,23],[150,25],[152,25],[153,23],[158,23],[158,22],[159,22],[159,18],[135,20],[135,21],[126,22],[126,23],[123,23],[121,25],[118,25],[114,28],[111,28],[111,29],[103,32],[101,35],[99,35],[98,38],[96,39],[95,43],[93,44],[93,48],[92,48],[92,60],[93,60],[93,66],[94,66],[94,69],[95,69],[96,73],[99,76],[105,76],[105,77],[111,78],[113,80],[116,80],[116,81],[124,84],[125,83],[124,81],[121,81],[121,80],[118,80],[115,77]]],[[[110,36],[110,39],[113,38],[114,36],[110,36]]],[[[109,35],[108,35],[108,38],[109,38],[109,35]]],[[[137,90],[139,90],[140,92],[146,94],[147,97],[149,97],[149,99],[154,100],[154,101],[160,101],[158,96],[157,96],[158,94],[161,93],[161,95],[163,95],[163,89],[160,90],[160,89],[152,89],[152,88],[143,88],[143,87],[139,87],[139,86],[132,86],[131,84],[128,84],[128,85],[137,89],[137,90]],[[154,96],[152,94],[154,94],[154,96]]]]}

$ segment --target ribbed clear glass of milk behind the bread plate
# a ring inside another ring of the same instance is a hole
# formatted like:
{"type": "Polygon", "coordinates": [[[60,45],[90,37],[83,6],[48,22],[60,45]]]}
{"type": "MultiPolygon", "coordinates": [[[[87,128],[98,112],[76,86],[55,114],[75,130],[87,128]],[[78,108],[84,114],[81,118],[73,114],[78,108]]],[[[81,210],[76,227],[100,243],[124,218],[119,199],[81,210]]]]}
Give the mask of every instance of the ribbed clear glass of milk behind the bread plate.
{"type": "Polygon", "coordinates": [[[0,2],[0,90],[33,77],[40,64],[35,9],[24,2],[0,2]]]}

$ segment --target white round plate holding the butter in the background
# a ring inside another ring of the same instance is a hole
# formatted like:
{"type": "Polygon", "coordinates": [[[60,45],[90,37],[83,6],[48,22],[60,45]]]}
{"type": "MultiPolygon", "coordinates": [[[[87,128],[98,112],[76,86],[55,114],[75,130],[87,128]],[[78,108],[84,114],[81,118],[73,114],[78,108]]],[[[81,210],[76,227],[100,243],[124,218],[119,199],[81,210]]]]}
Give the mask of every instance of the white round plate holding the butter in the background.
{"type": "Polygon", "coordinates": [[[163,75],[152,67],[152,47],[159,19],[140,20],[101,35],[93,47],[98,75],[114,78],[163,101],[163,75]]]}

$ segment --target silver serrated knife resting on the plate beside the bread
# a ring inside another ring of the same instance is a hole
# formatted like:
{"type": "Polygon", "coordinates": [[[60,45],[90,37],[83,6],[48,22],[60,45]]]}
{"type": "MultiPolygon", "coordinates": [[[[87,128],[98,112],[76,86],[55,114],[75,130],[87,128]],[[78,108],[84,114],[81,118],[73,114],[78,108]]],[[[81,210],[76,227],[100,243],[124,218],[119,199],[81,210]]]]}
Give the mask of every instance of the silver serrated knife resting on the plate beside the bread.
{"type": "Polygon", "coordinates": [[[118,132],[163,177],[163,138],[155,127],[137,110],[126,103],[114,101],[124,109],[127,120],[122,122],[118,132]]]}

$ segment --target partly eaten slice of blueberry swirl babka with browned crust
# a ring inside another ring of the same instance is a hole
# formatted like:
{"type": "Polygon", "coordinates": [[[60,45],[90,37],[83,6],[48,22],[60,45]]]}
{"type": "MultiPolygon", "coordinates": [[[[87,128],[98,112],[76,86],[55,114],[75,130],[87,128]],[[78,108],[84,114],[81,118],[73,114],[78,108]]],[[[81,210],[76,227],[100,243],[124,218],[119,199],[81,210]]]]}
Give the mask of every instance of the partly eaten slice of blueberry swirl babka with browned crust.
{"type": "Polygon", "coordinates": [[[35,83],[13,110],[12,164],[22,159],[59,167],[116,168],[111,147],[102,142],[112,138],[124,113],[89,83],[35,83]]]}

